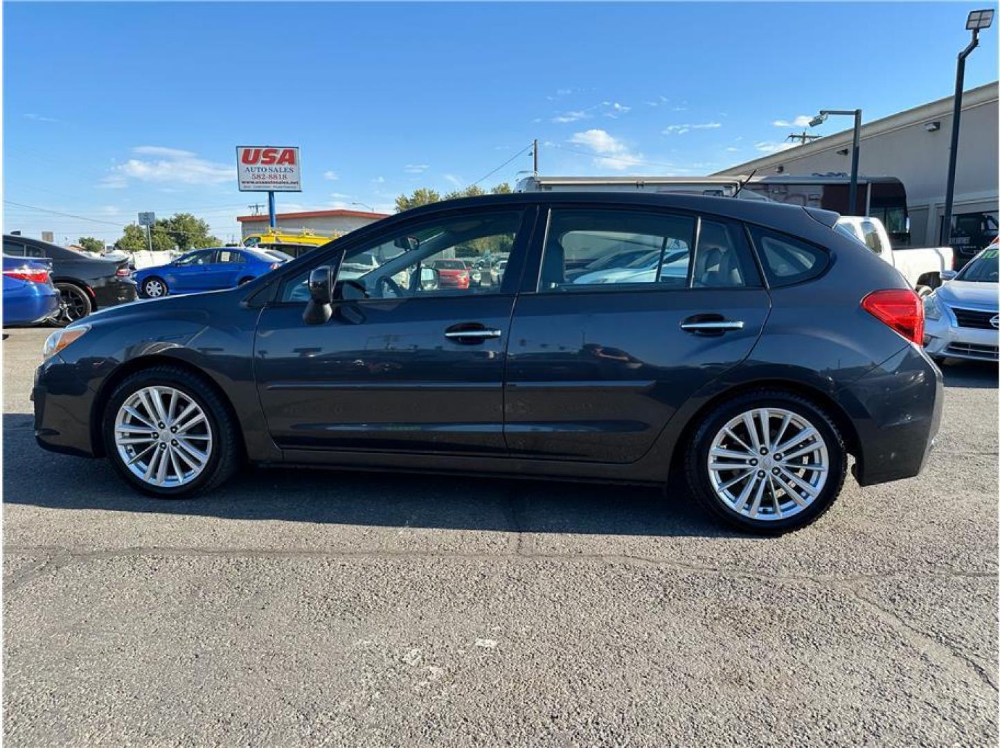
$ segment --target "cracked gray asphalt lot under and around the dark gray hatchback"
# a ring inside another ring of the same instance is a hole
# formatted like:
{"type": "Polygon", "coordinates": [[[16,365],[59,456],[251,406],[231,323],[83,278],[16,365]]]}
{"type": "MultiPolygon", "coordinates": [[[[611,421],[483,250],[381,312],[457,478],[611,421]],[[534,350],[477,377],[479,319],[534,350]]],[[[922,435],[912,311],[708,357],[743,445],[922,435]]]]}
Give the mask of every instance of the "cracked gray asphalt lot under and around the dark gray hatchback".
{"type": "Polygon", "coordinates": [[[993,745],[997,369],[938,447],[781,538],[655,490],[247,470],[133,493],[41,451],[4,354],[11,746],[993,745]]]}

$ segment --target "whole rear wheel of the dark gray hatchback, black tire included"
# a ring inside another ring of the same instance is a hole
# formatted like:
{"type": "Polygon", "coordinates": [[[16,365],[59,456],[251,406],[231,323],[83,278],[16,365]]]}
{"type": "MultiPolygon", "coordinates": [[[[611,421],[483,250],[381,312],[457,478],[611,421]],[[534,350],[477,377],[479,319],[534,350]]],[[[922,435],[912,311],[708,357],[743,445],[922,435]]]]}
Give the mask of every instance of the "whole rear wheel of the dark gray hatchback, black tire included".
{"type": "Polygon", "coordinates": [[[721,403],[701,420],[687,447],[684,468],[695,499],[713,517],[744,532],[779,535],[815,522],[833,505],[844,485],[847,450],[833,420],[814,402],[781,390],[757,390],[721,403]],[[762,412],[769,414],[766,417],[769,424],[768,442],[779,436],[777,432],[785,423],[786,415],[789,416],[789,421],[781,435],[781,442],[788,444],[799,438],[800,434],[805,434],[800,443],[786,448],[786,452],[792,455],[791,460],[777,451],[768,454],[759,450],[755,452],[756,445],[741,416],[754,414],[751,422],[756,426],[759,446],[767,450],[768,447],[761,438],[760,424],[761,419],[765,418],[762,412]],[[802,424],[812,427],[815,435],[807,433],[802,424]],[[729,434],[733,437],[741,439],[731,438],[724,427],[729,428],[729,434]],[[716,456],[713,458],[713,465],[732,464],[739,467],[713,470],[709,466],[709,453],[713,443],[717,449],[729,454],[738,452],[748,456],[716,456]],[[797,451],[809,448],[814,450],[795,456],[797,451]],[[750,458],[750,453],[755,456],[750,458]],[[780,467],[773,463],[775,457],[784,458],[780,467]],[[821,463],[825,463],[825,470],[820,470],[821,463]],[[815,465],[816,469],[810,469],[810,464],[815,465]],[[744,479],[726,487],[727,483],[743,473],[746,473],[744,479]],[[797,476],[809,488],[800,487],[792,479],[785,478],[787,474],[797,476]],[[749,494],[746,494],[746,488],[751,482],[753,485],[749,494]],[[763,488],[759,491],[760,498],[754,502],[758,495],[757,488],[761,484],[763,488]],[[728,498],[723,498],[720,494],[728,498]],[[740,508],[741,498],[744,504],[740,508]]]}

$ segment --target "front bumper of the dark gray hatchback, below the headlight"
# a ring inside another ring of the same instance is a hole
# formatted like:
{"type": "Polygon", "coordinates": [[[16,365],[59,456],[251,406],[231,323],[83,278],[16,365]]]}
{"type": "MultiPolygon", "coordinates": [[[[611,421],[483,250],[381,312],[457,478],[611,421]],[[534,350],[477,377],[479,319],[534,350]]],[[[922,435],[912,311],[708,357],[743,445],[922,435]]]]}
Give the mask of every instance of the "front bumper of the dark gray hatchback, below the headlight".
{"type": "Polygon", "coordinates": [[[35,441],[50,452],[94,457],[90,409],[94,393],[58,355],[35,371],[31,390],[35,441]]]}

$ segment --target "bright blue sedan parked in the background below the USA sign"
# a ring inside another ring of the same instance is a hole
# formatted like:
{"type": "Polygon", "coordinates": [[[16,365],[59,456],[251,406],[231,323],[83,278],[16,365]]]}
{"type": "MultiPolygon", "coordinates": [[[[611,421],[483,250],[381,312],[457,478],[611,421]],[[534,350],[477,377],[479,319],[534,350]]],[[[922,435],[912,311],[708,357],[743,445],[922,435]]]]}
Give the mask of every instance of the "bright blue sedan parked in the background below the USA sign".
{"type": "Polygon", "coordinates": [[[158,299],[168,294],[234,288],[281,265],[263,250],[216,247],[188,252],[169,265],[137,270],[133,277],[140,296],[158,299]]]}

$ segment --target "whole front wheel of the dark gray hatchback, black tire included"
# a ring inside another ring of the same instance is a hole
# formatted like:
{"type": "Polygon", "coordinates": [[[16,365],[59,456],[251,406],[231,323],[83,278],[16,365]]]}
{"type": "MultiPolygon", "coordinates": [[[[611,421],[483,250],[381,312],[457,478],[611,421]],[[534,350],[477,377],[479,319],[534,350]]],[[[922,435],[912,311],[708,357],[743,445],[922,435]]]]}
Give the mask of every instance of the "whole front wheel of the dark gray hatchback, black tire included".
{"type": "Polygon", "coordinates": [[[203,493],[239,463],[239,436],[219,395],[185,369],[157,366],[127,377],[104,410],[105,451],[118,473],[160,498],[203,493]]]}

